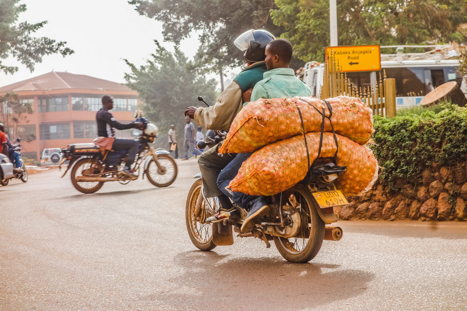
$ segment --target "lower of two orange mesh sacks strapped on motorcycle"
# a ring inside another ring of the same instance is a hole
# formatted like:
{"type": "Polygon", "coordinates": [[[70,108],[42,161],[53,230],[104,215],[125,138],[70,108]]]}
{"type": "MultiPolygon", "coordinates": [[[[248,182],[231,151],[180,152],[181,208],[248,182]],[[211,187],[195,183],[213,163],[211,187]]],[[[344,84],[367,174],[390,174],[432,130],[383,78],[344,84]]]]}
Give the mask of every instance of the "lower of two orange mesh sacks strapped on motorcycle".
{"type": "MultiPolygon", "coordinates": [[[[306,134],[310,163],[318,156],[320,133],[306,134]]],[[[347,171],[336,180],[336,187],[346,195],[362,193],[371,188],[378,175],[376,159],[366,146],[337,135],[337,165],[347,171]]],[[[336,152],[332,133],[324,133],[320,157],[336,152]]],[[[230,181],[228,188],[252,195],[273,195],[285,191],[305,178],[307,155],[303,135],[270,144],[253,153],[230,181]]]]}

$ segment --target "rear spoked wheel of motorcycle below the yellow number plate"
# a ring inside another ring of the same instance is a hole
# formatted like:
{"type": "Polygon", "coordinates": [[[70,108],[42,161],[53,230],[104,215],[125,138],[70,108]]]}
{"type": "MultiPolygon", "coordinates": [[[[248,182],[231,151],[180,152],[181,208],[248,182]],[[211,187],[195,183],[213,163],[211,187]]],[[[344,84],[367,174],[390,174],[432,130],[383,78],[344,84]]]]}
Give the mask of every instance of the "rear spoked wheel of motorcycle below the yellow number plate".
{"type": "Polygon", "coordinates": [[[281,255],[290,262],[305,263],[320,251],[325,234],[325,223],[315,209],[309,190],[296,185],[282,194],[286,205],[295,207],[301,214],[300,233],[291,238],[274,236],[274,244],[281,255]]]}

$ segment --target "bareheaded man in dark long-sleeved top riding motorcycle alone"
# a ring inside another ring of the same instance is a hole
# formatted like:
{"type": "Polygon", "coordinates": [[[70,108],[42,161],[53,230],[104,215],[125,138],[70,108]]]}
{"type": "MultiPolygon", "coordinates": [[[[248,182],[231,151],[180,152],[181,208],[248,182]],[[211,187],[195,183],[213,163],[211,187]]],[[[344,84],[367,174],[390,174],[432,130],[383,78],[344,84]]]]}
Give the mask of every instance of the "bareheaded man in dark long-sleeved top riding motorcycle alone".
{"type": "Polygon", "coordinates": [[[113,137],[112,150],[125,150],[128,153],[125,167],[122,173],[131,177],[138,177],[131,171],[131,165],[135,161],[136,153],[138,152],[138,141],[128,138],[115,138],[115,129],[126,130],[139,128],[141,122],[131,122],[123,124],[118,122],[109,110],[114,108],[114,99],[111,96],[104,95],[102,97],[102,108],[96,114],[97,120],[97,135],[101,137],[113,137]]]}

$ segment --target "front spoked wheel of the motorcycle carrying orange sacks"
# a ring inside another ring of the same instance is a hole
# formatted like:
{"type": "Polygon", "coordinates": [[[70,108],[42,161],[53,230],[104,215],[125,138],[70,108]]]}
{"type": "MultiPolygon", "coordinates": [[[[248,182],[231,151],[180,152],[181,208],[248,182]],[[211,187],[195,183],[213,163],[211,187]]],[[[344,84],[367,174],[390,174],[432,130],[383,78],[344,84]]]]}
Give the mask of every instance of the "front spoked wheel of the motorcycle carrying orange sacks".
{"type": "Polygon", "coordinates": [[[216,245],[212,241],[212,224],[204,222],[212,213],[208,213],[205,209],[206,202],[201,194],[202,186],[203,181],[198,179],[188,192],[185,206],[186,229],[188,230],[191,242],[198,249],[210,251],[216,245]]]}

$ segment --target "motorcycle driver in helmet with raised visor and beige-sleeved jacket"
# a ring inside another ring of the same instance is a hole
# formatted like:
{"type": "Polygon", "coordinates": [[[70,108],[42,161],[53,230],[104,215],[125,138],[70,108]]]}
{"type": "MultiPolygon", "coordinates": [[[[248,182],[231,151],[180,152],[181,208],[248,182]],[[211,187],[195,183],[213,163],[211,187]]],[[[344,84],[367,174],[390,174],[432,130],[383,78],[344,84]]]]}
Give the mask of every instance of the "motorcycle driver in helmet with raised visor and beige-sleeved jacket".
{"type": "MultiPolygon", "coordinates": [[[[266,71],[264,49],[266,44],[274,39],[276,38],[272,34],[263,29],[250,29],[235,39],[234,44],[244,51],[247,67],[225,88],[214,106],[188,107],[185,116],[193,118],[208,130],[228,130],[234,117],[242,109],[244,101],[247,101],[244,97],[249,98],[248,90],[263,79],[263,73],[266,71]]],[[[217,216],[223,213],[230,215],[233,211],[230,200],[217,186],[217,178],[235,155],[220,155],[218,150],[221,146],[222,142],[203,152],[198,160],[205,197],[218,197],[221,203],[222,209],[218,211],[217,216]]]]}

